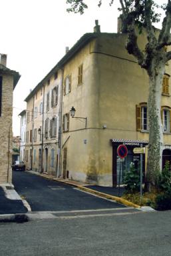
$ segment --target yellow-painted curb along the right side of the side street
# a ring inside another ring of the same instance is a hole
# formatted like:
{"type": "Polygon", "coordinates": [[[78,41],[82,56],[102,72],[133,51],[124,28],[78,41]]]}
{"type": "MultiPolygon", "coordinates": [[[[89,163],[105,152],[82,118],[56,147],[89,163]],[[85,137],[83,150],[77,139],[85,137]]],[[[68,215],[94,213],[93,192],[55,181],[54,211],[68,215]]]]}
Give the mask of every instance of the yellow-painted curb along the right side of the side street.
{"type": "Polygon", "coordinates": [[[57,179],[57,178],[52,178],[52,177],[48,177],[48,176],[45,176],[45,175],[41,175],[41,173],[35,173],[33,171],[31,173],[33,173],[35,175],[39,175],[39,176],[41,176],[45,179],[51,179],[53,181],[59,181],[61,183],[72,185],[72,186],[77,187],[78,189],[80,189],[82,191],[85,191],[85,192],[88,192],[88,193],[91,193],[91,194],[94,194],[94,195],[98,195],[99,197],[103,197],[103,198],[106,198],[106,199],[116,201],[117,203],[121,203],[122,205],[130,206],[130,207],[134,207],[134,208],[138,208],[138,209],[141,208],[140,205],[136,205],[135,203],[127,201],[126,199],[123,199],[122,197],[116,197],[115,195],[109,195],[109,194],[106,194],[106,193],[96,191],[94,189],[88,189],[88,187],[83,187],[81,185],[77,185],[77,184],[69,182],[69,181],[63,181],[63,180],[60,180],[60,179],[57,179]]]}

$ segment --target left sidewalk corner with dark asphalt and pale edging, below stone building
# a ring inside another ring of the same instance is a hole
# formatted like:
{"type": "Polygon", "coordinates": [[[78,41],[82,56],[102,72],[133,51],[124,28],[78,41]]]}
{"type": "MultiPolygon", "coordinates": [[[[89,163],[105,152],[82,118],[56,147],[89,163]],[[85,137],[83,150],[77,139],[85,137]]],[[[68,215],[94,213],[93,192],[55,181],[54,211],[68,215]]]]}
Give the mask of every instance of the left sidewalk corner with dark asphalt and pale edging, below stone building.
{"type": "Polygon", "coordinates": [[[0,185],[0,222],[23,222],[28,209],[12,184],[0,185]]]}

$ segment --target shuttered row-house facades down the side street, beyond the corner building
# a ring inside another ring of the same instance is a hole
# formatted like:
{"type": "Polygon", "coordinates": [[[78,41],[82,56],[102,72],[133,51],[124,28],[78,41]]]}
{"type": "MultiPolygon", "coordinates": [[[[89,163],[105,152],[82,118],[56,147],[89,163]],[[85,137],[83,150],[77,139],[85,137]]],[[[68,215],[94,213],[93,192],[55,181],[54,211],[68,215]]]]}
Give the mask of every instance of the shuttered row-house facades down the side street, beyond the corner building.
{"type": "Polygon", "coordinates": [[[60,128],[61,71],[53,68],[25,101],[26,168],[57,176],[60,128]]]}

